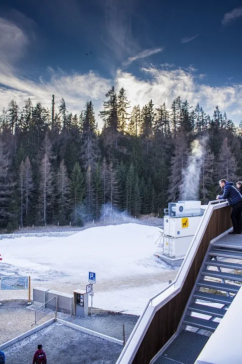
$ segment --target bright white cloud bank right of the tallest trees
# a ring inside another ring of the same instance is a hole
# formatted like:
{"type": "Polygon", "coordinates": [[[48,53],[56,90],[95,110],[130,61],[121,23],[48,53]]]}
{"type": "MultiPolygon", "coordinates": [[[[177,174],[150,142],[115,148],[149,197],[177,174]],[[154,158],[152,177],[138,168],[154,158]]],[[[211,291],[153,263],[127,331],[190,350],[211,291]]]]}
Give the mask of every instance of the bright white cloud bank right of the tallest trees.
{"type": "Polygon", "coordinates": [[[131,106],[139,104],[142,107],[152,99],[155,105],[165,102],[169,107],[172,101],[180,96],[183,100],[187,99],[193,107],[199,103],[210,115],[218,105],[234,122],[238,123],[241,119],[238,110],[242,109],[242,84],[212,87],[198,83],[196,74],[181,68],[142,68],[142,72],[149,75],[149,80],[137,78],[132,73],[121,70],[117,72],[116,88],[124,87],[127,90],[131,106]]]}

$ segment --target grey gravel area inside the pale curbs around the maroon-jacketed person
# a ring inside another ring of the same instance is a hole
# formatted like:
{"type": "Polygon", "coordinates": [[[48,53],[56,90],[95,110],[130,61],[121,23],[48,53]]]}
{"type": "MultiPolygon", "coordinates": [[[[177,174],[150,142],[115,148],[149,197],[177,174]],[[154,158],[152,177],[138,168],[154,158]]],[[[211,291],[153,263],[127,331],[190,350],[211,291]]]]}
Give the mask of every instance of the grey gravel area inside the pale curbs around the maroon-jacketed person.
{"type": "Polygon", "coordinates": [[[114,364],[121,345],[54,323],[6,348],[6,364],[32,363],[41,343],[48,364],[114,364]]]}

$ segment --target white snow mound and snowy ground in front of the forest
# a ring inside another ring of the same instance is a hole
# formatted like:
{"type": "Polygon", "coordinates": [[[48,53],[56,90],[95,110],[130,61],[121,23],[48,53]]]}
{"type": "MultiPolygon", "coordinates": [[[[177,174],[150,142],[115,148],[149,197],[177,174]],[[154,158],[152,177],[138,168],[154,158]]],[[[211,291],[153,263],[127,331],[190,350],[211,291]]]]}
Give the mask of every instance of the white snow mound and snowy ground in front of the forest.
{"type": "MultiPolygon", "coordinates": [[[[149,297],[176,275],[153,255],[161,251],[155,244],[159,237],[159,228],[129,223],[68,237],[4,239],[0,242],[3,262],[13,267],[2,269],[2,275],[30,275],[32,288],[72,293],[85,289],[88,271],[94,271],[93,306],[140,314],[149,297]]],[[[21,294],[2,291],[1,299],[21,294]]]]}

